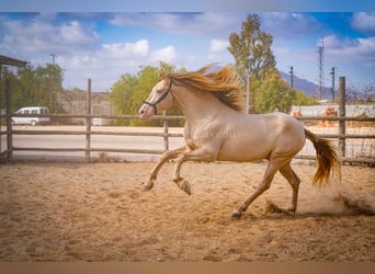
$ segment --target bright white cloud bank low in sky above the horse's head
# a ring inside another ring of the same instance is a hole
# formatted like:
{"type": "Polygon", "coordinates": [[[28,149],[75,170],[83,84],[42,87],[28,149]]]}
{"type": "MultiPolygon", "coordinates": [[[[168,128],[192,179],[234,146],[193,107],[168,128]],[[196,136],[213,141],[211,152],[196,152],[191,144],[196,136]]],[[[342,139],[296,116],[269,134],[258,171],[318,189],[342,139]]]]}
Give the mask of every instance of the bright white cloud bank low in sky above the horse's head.
{"type": "MultiPolygon", "coordinates": [[[[93,91],[109,90],[124,73],[136,73],[139,66],[158,65],[159,61],[177,64],[179,60],[189,60],[188,56],[180,55],[173,46],[149,49],[149,42],[140,39],[135,43],[104,44],[98,50],[87,55],[60,57],[57,62],[65,71],[65,80],[70,85],[86,89],[87,79],[92,79],[93,91]]],[[[183,62],[183,61],[181,61],[183,62]]]]}

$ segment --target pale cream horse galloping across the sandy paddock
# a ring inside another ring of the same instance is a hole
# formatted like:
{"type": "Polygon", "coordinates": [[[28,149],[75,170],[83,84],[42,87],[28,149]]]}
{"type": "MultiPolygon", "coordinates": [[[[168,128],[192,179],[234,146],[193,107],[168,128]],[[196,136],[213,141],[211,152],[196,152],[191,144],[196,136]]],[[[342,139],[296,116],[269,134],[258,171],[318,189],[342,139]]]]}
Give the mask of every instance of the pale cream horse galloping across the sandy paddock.
{"type": "Polygon", "coordinates": [[[152,189],[159,170],[171,159],[175,159],[172,180],[189,195],[191,185],[180,175],[181,165],[186,161],[266,159],[263,179],[245,203],[231,213],[231,218],[240,218],[249,205],[270,189],[277,171],[292,187],[291,207],[283,210],[295,214],[300,179],[291,162],[306,139],[312,141],[317,155],[312,184],[325,185],[334,175],[341,178],[340,158],[331,141],[318,137],[284,113],[246,114],[243,84],[235,68],[216,67],[207,65],[192,72],[163,75],[139,107],[140,118],[147,121],[173,105],[185,116],[184,146],[162,153],[144,183],[144,191],[152,189]]]}

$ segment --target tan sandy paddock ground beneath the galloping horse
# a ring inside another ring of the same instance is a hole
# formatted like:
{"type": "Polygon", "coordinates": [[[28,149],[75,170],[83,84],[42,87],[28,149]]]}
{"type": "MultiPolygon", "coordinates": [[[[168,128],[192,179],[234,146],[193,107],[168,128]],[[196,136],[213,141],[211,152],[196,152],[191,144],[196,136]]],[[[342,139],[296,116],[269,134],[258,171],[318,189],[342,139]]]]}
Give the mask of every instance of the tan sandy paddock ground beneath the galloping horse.
{"type": "Polygon", "coordinates": [[[375,261],[374,169],[344,165],[342,183],[303,183],[295,216],[277,174],[239,220],[229,214],[254,190],[265,163],[186,163],[188,196],[170,180],[141,192],[154,162],[0,164],[0,261],[375,261]]]}

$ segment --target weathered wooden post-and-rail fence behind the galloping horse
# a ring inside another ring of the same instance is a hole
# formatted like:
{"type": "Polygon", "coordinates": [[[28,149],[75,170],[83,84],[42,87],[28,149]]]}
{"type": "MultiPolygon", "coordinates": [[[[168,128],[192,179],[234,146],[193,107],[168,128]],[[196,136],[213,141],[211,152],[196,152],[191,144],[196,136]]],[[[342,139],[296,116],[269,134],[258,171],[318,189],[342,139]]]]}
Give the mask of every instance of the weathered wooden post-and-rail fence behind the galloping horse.
{"type": "MultiPolygon", "coordinates": [[[[345,98],[345,87],[344,87],[344,78],[340,78],[340,98],[345,98]]],[[[50,115],[32,115],[39,117],[50,117],[50,118],[84,118],[86,119],[86,130],[81,132],[72,132],[72,130],[13,130],[12,128],[12,116],[31,116],[31,115],[12,115],[11,114],[11,88],[10,81],[5,81],[5,94],[7,94],[7,114],[0,115],[0,159],[2,160],[11,160],[13,157],[13,151],[82,151],[86,155],[86,160],[91,161],[91,152],[127,152],[127,153],[147,153],[147,155],[160,155],[163,151],[169,149],[169,138],[173,137],[182,137],[182,134],[171,134],[169,133],[168,121],[171,119],[184,119],[183,116],[167,116],[167,115],[157,115],[155,119],[163,121],[163,133],[145,133],[145,132],[93,132],[91,129],[91,121],[92,118],[103,118],[103,119],[138,119],[138,115],[92,115],[90,114],[91,106],[91,80],[88,81],[88,114],[82,115],[68,115],[68,114],[50,114],[50,115]],[[7,130],[1,129],[1,121],[5,118],[7,130]],[[2,136],[7,136],[7,149],[2,149],[2,136]],[[15,147],[13,146],[13,135],[84,135],[86,136],[86,146],[82,148],[43,148],[43,147],[15,147]],[[149,149],[115,149],[115,148],[93,148],[91,146],[91,136],[93,135],[122,135],[122,136],[155,136],[161,137],[163,139],[163,150],[149,150],[149,149]]],[[[0,98],[1,99],[1,98],[0,98]]],[[[374,164],[375,159],[373,158],[346,158],[345,157],[345,140],[346,139],[375,139],[375,135],[353,135],[345,133],[345,122],[354,121],[354,122],[366,122],[374,123],[375,117],[346,117],[345,116],[345,102],[341,100],[339,109],[338,117],[327,117],[327,116],[303,116],[296,117],[302,122],[306,121],[338,121],[339,122],[339,133],[338,134],[326,134],[318,135],[323,138],[337,138],[339,140],[339,149],[342,156],[343,162],[360,162],[360,163],[368,163],[374,164]]],[[[299,159],[315,159],[315,156],[303,156],[298,155],[296,158],[299,159]]]]}

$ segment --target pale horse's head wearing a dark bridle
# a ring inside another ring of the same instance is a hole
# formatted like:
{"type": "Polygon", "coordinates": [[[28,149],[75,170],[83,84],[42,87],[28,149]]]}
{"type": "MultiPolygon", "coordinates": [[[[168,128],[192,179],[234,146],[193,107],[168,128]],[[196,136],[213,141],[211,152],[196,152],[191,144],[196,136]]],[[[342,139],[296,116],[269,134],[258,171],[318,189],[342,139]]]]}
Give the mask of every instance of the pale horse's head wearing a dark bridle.
{"type": "Polygon", "coordinates": [[[172,80],[162,79],[151,90],[147,100],[139,107],[139,116],[144,119],[151,119],[154,115],[168,110],[174,104],[171,93],[172,80]]]}

